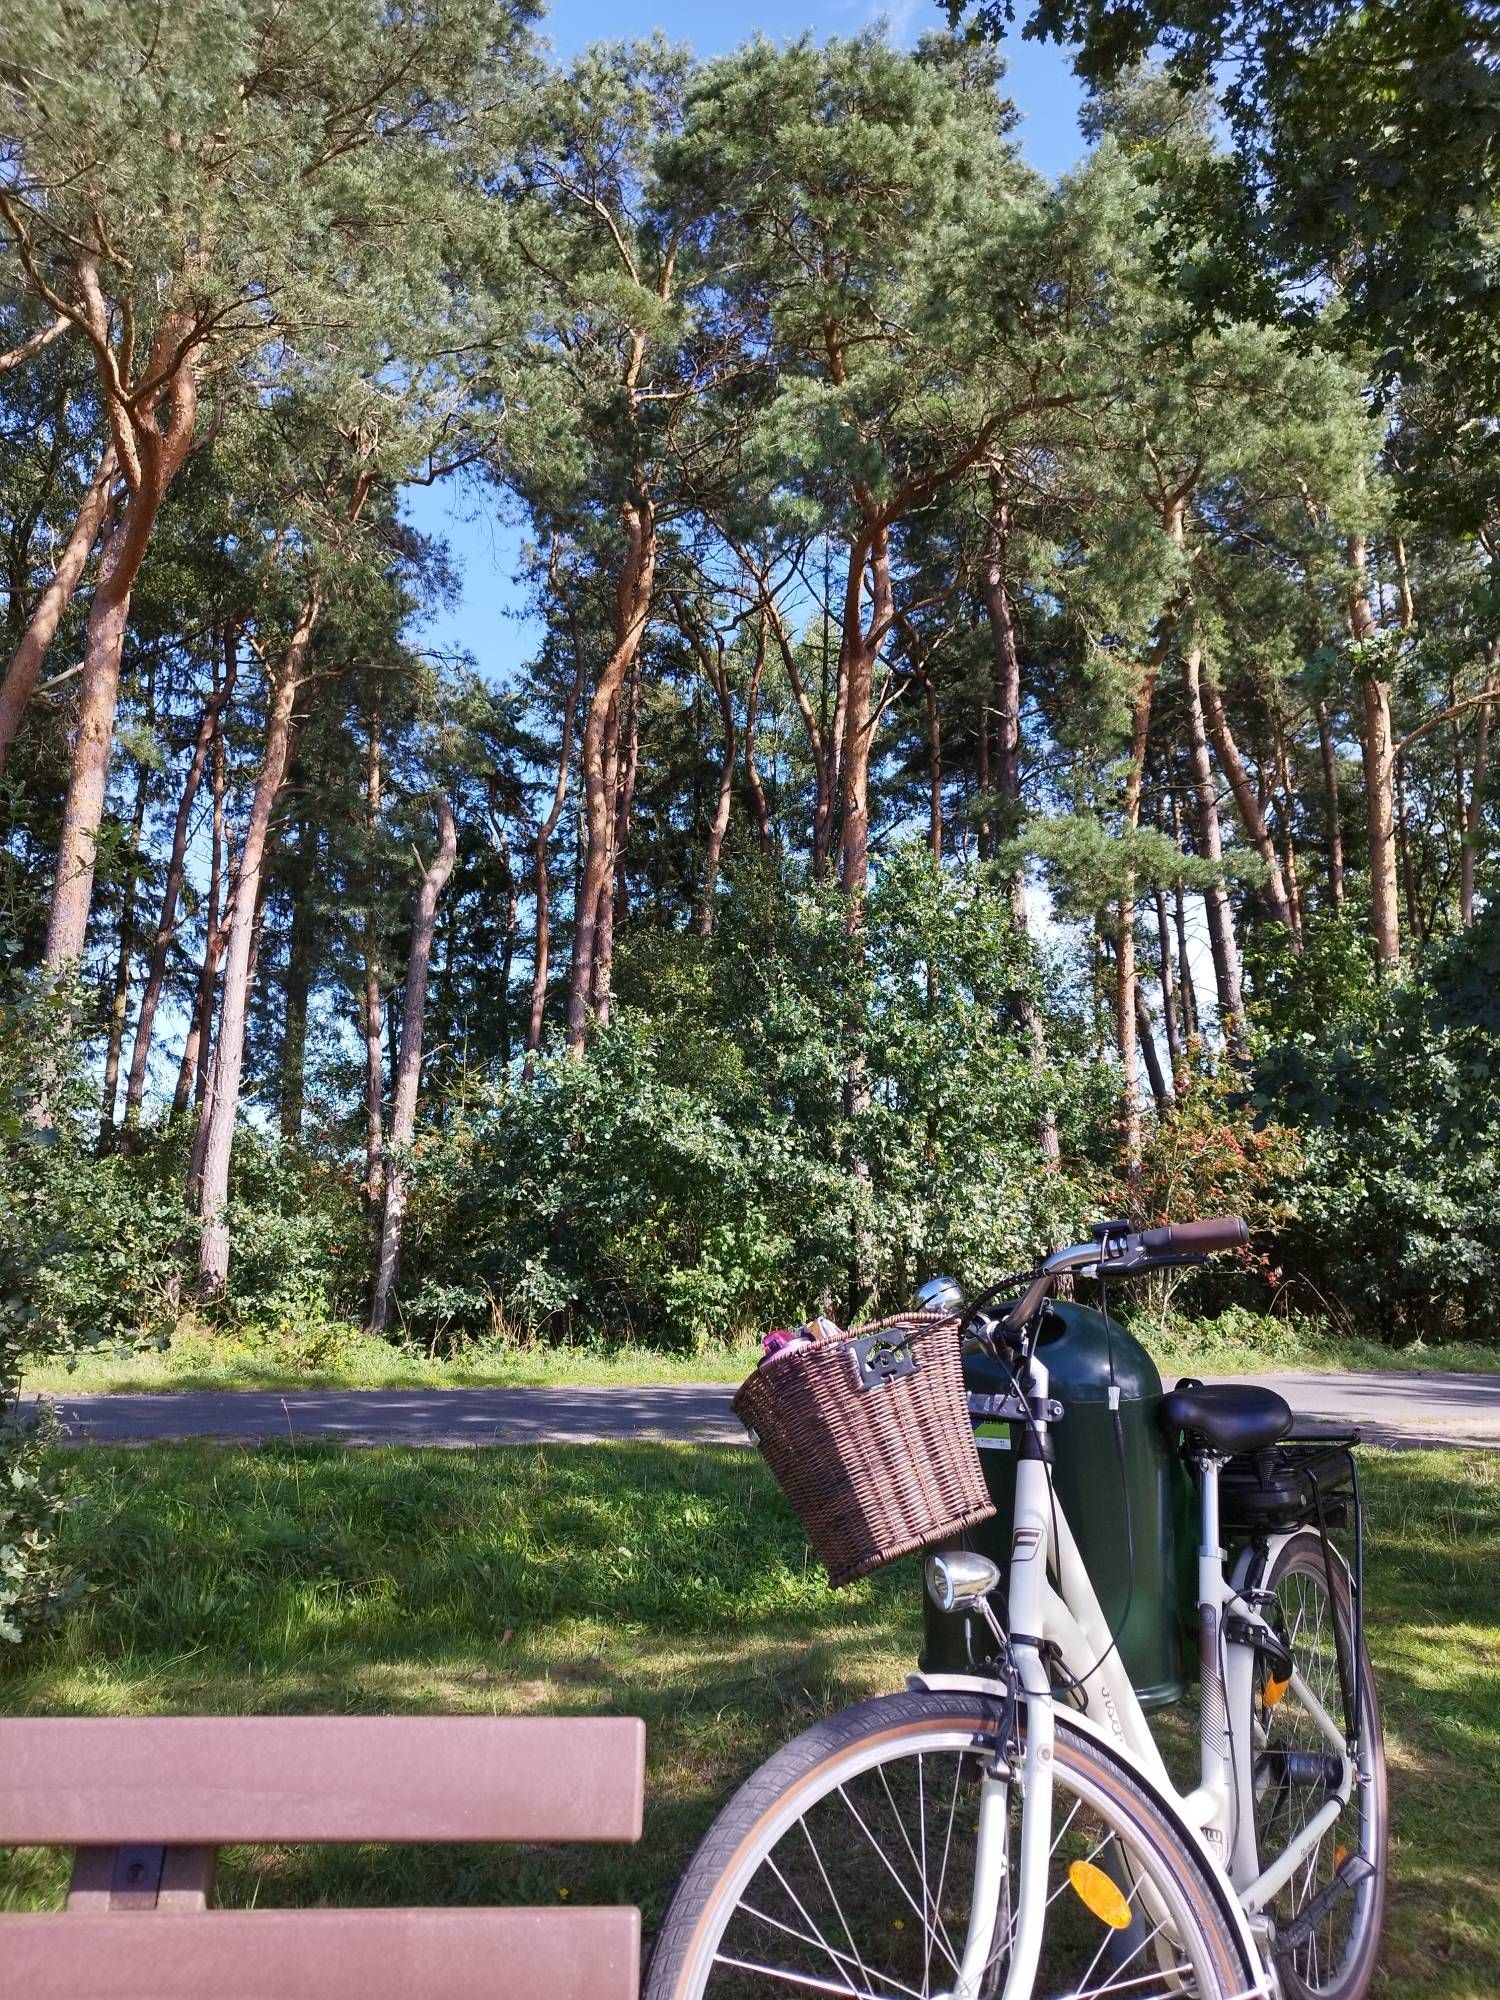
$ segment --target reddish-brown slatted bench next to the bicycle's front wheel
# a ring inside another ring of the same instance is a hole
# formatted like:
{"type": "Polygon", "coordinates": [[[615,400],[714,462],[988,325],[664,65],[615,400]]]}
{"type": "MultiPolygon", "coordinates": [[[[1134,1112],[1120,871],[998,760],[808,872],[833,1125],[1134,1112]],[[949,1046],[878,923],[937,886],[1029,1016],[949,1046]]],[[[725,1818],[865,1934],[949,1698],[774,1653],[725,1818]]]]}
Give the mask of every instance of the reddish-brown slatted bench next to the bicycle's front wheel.
{"type": "Polygon", "coordinates": [[[0,1846],[76,1850],[66,1912],[0,1916],[0,2000],[636,2000],[638,1910],[210,1900],[228,1844],[638,1840],[644,1744],[634,1718],[0,1722],[0,1846]]]}

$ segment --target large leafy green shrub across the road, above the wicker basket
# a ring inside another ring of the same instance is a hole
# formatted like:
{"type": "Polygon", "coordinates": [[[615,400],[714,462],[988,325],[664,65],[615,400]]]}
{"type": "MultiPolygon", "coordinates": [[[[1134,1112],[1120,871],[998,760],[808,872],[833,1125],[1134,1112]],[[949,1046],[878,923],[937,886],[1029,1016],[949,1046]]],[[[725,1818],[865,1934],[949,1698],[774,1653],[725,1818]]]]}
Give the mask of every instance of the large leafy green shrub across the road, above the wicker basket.
{"type": "Polygon", "coordinates": [[[898,1306],[936,1268],[980,1278],[1074,1226],[1080,1186],[1038,1170],[1036,1128],[1050,1094],[1084,1134],[1094,1064],[1064,1040],[1034,1072],[1012,1002],[1040,974],[1004,894],[902,850],[864,938],[858,970],[838,898],[766,890],[710,942],[648,942],[586,1060],[418,1140],[408,1330],[694,1348],[898,1306]],[[650,1012],[628,1004],[642,984],[650,1012]]]}

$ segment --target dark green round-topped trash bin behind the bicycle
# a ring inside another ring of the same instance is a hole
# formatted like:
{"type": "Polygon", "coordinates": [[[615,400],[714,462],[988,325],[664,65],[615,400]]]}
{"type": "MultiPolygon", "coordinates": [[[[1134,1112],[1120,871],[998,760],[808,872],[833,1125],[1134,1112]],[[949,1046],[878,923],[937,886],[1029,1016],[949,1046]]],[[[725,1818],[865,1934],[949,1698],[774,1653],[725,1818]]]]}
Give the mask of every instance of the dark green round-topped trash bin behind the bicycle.
{"type": "MultiPolygon", "coordinates": [[[[1052,1300],[1044,1310],[1038,1358],[1048,1370],[1048,1392],[1064,1416],[1052,1426],[1054,1490],[1098,1592],[1104,1618],[1118,1628],[1120,1656],[1142,1708],[1166,1708],[1188,1692],[1196,1612],[1196,1526],[1192,1478],[1168,1446],[1156,1420],[1162,1378],[1146,1348],[1116,1320],[1106,1322],[1086,1306],[1052,1300]],[[1120,1390],[1124,1472],[1110,1412],[1110,1350],[1120,1390]],[[1126,1532],[1128,1510],[1128,1532],[1126,1532]],[[1134,1592],[1130,1546],[1134,1544],[1134,1592]],[[1126,1614],[1128,1606],[1128,1614],[1126,1614]],[[1124,1618],[1124,1624],[1120,1620],[1124,1618]]],[[[1004,1396],[1010,1372],[988,1354],[964,1356],[970,1394],[1004,1396]]],[[[1020,1426],[974,1420],[984,1478],[996,1512],[970,1528],[954,1548],[976,1548],[1000,1564],[1010,1558],[1016,1506],[1016,1444],[1020,1426]]],[[[996,1596],[1004,1622],[1004,1586],[996,1596]]],[[[922,1592],[922,1668],[962,1674],[970,1660],[970,1620],[940,1612],[922,1592]]],[[[980,1644],[976,1634],[974,1644],[980,1644]]],[[[1074,1664],[1074,1662],[1070,1662],[1074,1664]]],[[[1092,1666],[1082,1662],[1082,1668],[1092,1666]]],[[[1074,1670],[1080,1670],[1074,1664],[1074,1670]]]]}

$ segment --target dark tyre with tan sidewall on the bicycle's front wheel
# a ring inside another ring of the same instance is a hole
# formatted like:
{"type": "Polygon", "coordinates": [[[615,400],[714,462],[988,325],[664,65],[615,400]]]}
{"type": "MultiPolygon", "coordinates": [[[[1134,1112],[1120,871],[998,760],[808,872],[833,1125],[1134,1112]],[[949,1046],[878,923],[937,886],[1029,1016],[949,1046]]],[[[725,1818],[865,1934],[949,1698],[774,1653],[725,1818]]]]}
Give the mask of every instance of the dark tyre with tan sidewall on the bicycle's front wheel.
{"type": "MultiPolygon", "coordinates": [[[[762,1878],[762,1868],[772,1866],[768,1858],[780,1852],[782,1838],[794,1826],[806,1832],[808,1816],[820,1802],[832,1800],[844,1784],[854,1782],[856,1774],[868,1774],[876,1764],[884,1778],[884,1770],[894,1768],[902,1758],[936,1754],[938,1746],[950,1752],[958,1742],[966,1742],[970,1756],[978,1754],[974,1750],[976,1744],[986,1746],[988,1752],[994,1740],[994,1704],[986,1702],[980,1694],[908,1692],[878,1696],[836,1716],[826,1716],[778,1750],[728,1800],[688,1862],[656,1936],[646,1978],[646,2000],[702,2000],[704,1994],[710,1990],[720,1992],[726,1984],[724,1978],[716,1976],[718,1964],[746,1970],[742,1960],[720,1960],[720,1942],[736,1916],[744,1912],[760,1916],[762,1922],[766,1920],[758,1908],[750,1906],[748,1898],[744,1902],[742,1898],[748,1886],[762,1878]]],[[[920,1768],[918,1764],[918,1772],[920,1768]]],[[[1156,1870],[1150,1876],[1154,1888],[1180,1904],[1180,1908],[1170,1910],[1170,1916],[1178,1932],[1188,1940],[1184,1950],[1196,1978],[1196,2000],[1232,2000],[1232,1996],[1258,1990],[1260,1972],[1248,1962],[1246,1948],[1228,1912],[1228,1886],[1216,1876],[1202,1854],[1194,1852],[1182,1838],[1128,1766],[1104,1752],[1084,1732],[1072,1728],[1064,1716],[1058,1716],[1054,1770],[1060,1796],[1066,1788],[1074,1788],[1078,1798],[1108,1802],[1118,1828],[1124,1830],[1122,1840],[1128,1840],[1128,1844],[1120,1846],[1120,1856],[1132,1868],[1138,1862],[1150,1864],[1156,1870]],[[1170,1888],[1164,1888],[1162,1878],[1170,1880],[1170,1888]]],[[[956,1788],[958,1778],[954,1776],[954,1796],[956,1788]]],[[[886,1796],[890,1796],[888,1786],[886,1796]]],[[[808,1844],[812,1846],[810,1836],[808,1844]]],[[[922,1852],[926,1858],[926,1830],[922,1834],[922,1852]]],[[[826,1876],[824,1882],[828,1882],[826,1876]]],[[[932,1898],[938,1926],[942,1926],[938,1912],[942,1896],[944,1884],[940,1880],[932,1898]]],[[[908,1902],[912,1910],[918,1908],[912,1898],[908,1902]]],[[[928,1878],[924,1872],[922,1904],[926,1906],[926,1902],[928,1878]]],[[[800,1902],[796,1906],[802,1908],[800,1902]]],[[[776,1980],[756,1980],[754,1990],[774,1988],[778,1992],[792,1992],[800,1984],[804,1988],[840,1992],[844,2000],[864,2000],[866,1994],[886,1996],[892,1990],[918,1992],[914,1980],[902,1986],[900,1980],[886,1976],[882,1984],[876,1984],[874,1974],[866,1976],[846,1912],[836,1900],[832,1908],[838,1910],[850,1942],[850,1952],[840,1950],[838,1954],[846,1960],[838,1968],[840,1978],[824,1980],[820,1986],[816,1978],[798,1978],[796,1974],[788,1976],[782,1972],[776,1980]],[[852,1970],[856,1960],[858,1980],[852,1970]]],[[[900,1912],[902,1904],[892,1898],[890,1908],[900,1912]]],[[[1048,1922],[1050,1926],[1056,1924],[1056,1916],[1048,1922]]],[[[1140,1922],[1144,1924],[1144,1918],[1140,1922]]],[[[812,1918],[808,1918],[808,1924],[812,1926],[812,1918]]],[[[812,1928],[816,1930],[816,1926],[812,1928]]],[[[892,1928],[902,1928],[900,1914],[892,1920],[892,1928]]],[[[1158,1924],[1156,1928],[1160,1930],[1162,1926],[1158,1924]]],[[[802,1942],[810,1944],[812,1940],[804,1938],[802,1942]]],[[[1156,1952],[1160,1954],[1160,1950],[1162,1946],[1158,1944],[1156,1952]]],[[[748,1970],[764,1972],[766,1968],[752,1966],[748,1970]]],[[[992,1976],[998,1978],[998,1972],[992,1976]]],[[[728,1974],[728,1982],[736,1990],[744,1990],[744,1980],[736,1980],[734,1974],[728,1974]]],[[[1170,1978],[1168,1984],[1174,1992],[1182,1990],[1170,1978]]],[[[1164,1990],[1168,1990],[1168,1984],[1164,1984],[1164,1990]]],[[[1136,1992],[1138,1986],[1140,1978],[1122,1984],[1118,1990],[1136,1992]]],[[[920,1990],[932,1990],[930,1976],[922,1978],[920,1990]]],[[[1106,1984],[1096,1990],[1108,1992],[1110,1986],[1106,1984]]]]}

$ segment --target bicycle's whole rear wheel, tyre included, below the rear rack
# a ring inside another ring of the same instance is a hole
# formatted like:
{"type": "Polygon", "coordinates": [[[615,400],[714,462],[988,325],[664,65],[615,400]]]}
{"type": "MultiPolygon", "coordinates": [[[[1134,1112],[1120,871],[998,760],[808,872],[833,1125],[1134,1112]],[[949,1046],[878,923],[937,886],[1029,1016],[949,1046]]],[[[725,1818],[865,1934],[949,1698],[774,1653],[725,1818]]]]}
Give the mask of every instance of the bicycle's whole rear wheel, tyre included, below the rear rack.
{"type": "MultiPolygon", "coordinates": [[[[1386,1748],[1370,1658],[1354,1660],[1348,1572],[1334,1560],[1332,1590],[1322,1538],[1312,1530],[1282,1544],[1260,1590],[1266,1620],[1320,1708],[1344,1726],[1340,1654],[1356,1680],[1356,1784],[1322,1840],[1270,1902],[1276,1960],[1288,2000],[1364,2000],[1380,1952],[1386,1908],[1386,1748]]],[[[1256,1842],[1268,1868],[1328,1798],[1316,1780],[1330,1744],[1312,1710],[1266,1662],[1256,1668],[1252,1714],[1256,1842]]]]}

